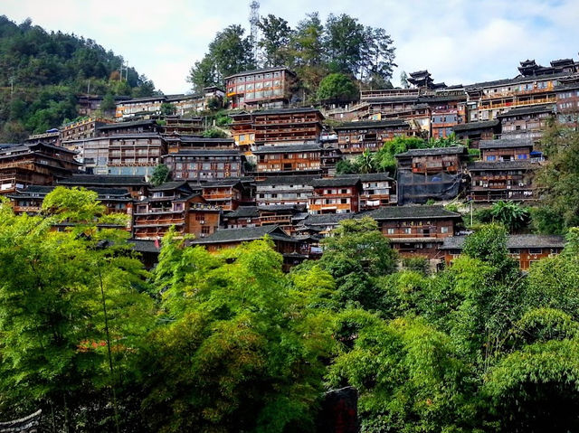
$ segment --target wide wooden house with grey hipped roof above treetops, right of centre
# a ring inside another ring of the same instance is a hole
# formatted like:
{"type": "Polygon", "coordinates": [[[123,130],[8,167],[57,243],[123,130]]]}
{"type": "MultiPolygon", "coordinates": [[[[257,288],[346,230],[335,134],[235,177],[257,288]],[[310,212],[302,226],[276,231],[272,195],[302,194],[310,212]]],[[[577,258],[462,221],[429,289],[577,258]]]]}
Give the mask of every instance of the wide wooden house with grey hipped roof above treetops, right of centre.
{"type": "Polygon", "coordinates": [[[453,236],[462,217],[442,206],[389,206],[366,212],[403,257],[440,259],[438,248],[453,236]]]}

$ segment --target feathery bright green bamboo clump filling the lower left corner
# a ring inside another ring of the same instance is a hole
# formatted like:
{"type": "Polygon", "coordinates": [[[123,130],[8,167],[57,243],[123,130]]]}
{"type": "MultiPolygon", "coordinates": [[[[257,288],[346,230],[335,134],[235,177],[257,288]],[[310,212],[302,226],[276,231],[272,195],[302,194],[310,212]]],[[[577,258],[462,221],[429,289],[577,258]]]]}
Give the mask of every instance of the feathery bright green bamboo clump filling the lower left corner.
{"type": "Polygon", "coordinates": [[[97,228],[126,216],[104,211],[96,193],[62,187],[47,195],[43,216],[15,216],[0,204],[0,395],[7,417],[14,408],[40,407],[70,430],[138,423],[119,412],[153,309],[138,290],[147,276],[128,249],[128,232],[97,228]],[[70,230],[52,231],[64,222],[70,230]]]}

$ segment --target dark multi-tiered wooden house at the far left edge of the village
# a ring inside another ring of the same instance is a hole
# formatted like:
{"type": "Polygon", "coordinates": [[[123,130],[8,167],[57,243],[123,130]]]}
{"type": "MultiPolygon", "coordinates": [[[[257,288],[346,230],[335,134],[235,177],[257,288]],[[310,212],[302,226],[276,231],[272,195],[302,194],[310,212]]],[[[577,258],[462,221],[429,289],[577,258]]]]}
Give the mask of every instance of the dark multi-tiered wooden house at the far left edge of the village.
{"type": "Polygon", "coordinates": [[[26,185],[52,185],[78,173],[75,153],[44,143],[0,146],[0,194],[26,185]]]}

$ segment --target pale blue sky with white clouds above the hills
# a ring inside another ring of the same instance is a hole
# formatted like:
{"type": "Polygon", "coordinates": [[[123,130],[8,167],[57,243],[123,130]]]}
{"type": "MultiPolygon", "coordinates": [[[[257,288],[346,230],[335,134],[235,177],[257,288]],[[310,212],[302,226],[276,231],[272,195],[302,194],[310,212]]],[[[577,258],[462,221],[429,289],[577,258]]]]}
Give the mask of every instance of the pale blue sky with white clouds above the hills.
{"type": "MultiPolygon", "coordinates": [[[[165,93],[189,89],[185,77],[214,34],[248,26],[249,0],[2,0],[0,14],[30,17],[48,30],[94,39],[122,55],[165,93]]],[[[401,71],[428,69],[435,81],[468,84],[517,74],[518,61],[573,57],[579,50],[579,1],[261,0],[260,14],[295,25],[306,13],[350,14],[383,27],[401,71]]]]}

